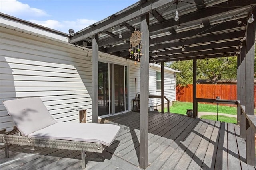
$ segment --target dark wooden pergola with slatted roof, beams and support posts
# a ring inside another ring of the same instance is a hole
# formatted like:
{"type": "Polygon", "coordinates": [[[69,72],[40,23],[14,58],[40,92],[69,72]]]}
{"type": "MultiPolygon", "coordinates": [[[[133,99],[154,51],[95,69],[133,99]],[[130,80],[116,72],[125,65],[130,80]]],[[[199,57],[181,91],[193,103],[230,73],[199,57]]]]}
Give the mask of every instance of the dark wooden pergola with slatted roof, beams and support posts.
{"type": "MultiPolygon", "coordinates": [[[[248,18],[250,14],[256,16],[255,5],[255,0],[140,0],[69,35],[69,43],[93,49],[93,122],[97,123],[98,117],[98,51],[129,59],[129,38],[135,29],[140,29],[143,42],[143,55],[140,59],[140,167],[145,169],[148,166],[148,64],[161,63],[163,68],[164,62],[193,60],[193,117],[197,117],[196,107],[200,101],[196,98],[197,60],[228,56],[235,56],[238,61],[238,124],[241,125],[241,137],[250,136],[249,141],[246,141],[250,143],[246,147],[247,163],[255,165],[255,143],[252,142],[254,131],[245,126],[248,124],[245,110],[240,107],[245,106],[246,114],[254,114],[256,21],[248,23],[248,18]],[[178,21],[174,20],[176,8],[179,12],[178,21]],[[241,23],[238,24],[238,21],[241,23]],[[115,31],[112,32],[112,28],[115,31]],[[121,39],[118,37],[119,31],[122,33],[121,39]],[[101,37],[98,37],[99,33],[101,37]],[[243,37],[246,40],[240,41],[243,37]],[[181,50],[182,46],[185,51],[181,50]]],[[[163,69],[161,71],[163,77],[163,69]]],[[[163,100],[162,89],[162,105],[163,100]]]]}

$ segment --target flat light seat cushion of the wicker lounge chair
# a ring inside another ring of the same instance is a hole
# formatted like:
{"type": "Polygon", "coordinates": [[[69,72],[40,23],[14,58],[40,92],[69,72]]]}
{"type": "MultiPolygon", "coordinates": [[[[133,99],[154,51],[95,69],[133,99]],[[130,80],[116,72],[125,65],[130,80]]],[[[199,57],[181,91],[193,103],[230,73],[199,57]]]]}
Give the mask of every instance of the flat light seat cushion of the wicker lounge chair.
{"type": "Polygon", "coordinates": [[[110,124],[59,122],[33,132],[28,137],[94,142],[110,146],[119,130],[119,126],[110,124]]]}

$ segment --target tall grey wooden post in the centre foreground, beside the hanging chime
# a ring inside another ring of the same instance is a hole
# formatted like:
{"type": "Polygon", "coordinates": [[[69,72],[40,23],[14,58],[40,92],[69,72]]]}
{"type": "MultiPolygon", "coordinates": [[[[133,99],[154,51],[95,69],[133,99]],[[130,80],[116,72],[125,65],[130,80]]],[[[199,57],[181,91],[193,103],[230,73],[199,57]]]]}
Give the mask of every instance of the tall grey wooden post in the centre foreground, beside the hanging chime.
{"type": "Polygon", "coordinates": [[[140,168],[148,167],[148,78],[149,14],[141,16],[142,57],[140,59],[140,168]]]}

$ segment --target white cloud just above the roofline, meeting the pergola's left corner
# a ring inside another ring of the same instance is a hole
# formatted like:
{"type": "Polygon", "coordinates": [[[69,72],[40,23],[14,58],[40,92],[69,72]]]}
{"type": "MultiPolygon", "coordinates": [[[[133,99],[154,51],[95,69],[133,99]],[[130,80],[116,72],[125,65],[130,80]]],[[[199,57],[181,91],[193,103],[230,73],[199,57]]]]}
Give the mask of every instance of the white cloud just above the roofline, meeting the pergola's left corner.
{"type": "Polygon", "coordinates": [[[51,29],[56,29],[58,31],[62,31],[64,33],[68,33],[68,29],[74,29],[75,32],[96,23],[96,20],[88,20],[88,19],[76,19],[75,21],[57,21],[57,20],[28,20],[32,23],[36,23],[38,25],[42,25],[44,27],[48,27],[51,29]]]}

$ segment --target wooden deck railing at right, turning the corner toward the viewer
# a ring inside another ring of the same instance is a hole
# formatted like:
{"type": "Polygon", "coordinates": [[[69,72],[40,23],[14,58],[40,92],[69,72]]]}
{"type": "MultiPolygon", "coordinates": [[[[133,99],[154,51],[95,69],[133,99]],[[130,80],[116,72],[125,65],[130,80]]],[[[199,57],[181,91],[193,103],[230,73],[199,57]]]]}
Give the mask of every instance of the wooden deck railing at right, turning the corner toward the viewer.
{"type": "MultiPolygon", "coordinates": [[[[196,98],[196,104],[198,102],[218,103],[218,104],[235,104],[240,109],[241,115],[238,115],[241,119],[240,122],[240,137],[246,139],[246,161],[247,164],[255,166],[255,133],[256,133],[256,116],[253,114],[246,114],[245,106],[241,105],[239,100],[223,100],[223,99],[204,99],[196,98]],[[245,119],[242,121],[242,119],[245,119]],[[252,129],[252,131],[250,131],[252,129]]],[[[239,118],[238,118],[239,119],[239,118]]]]}

